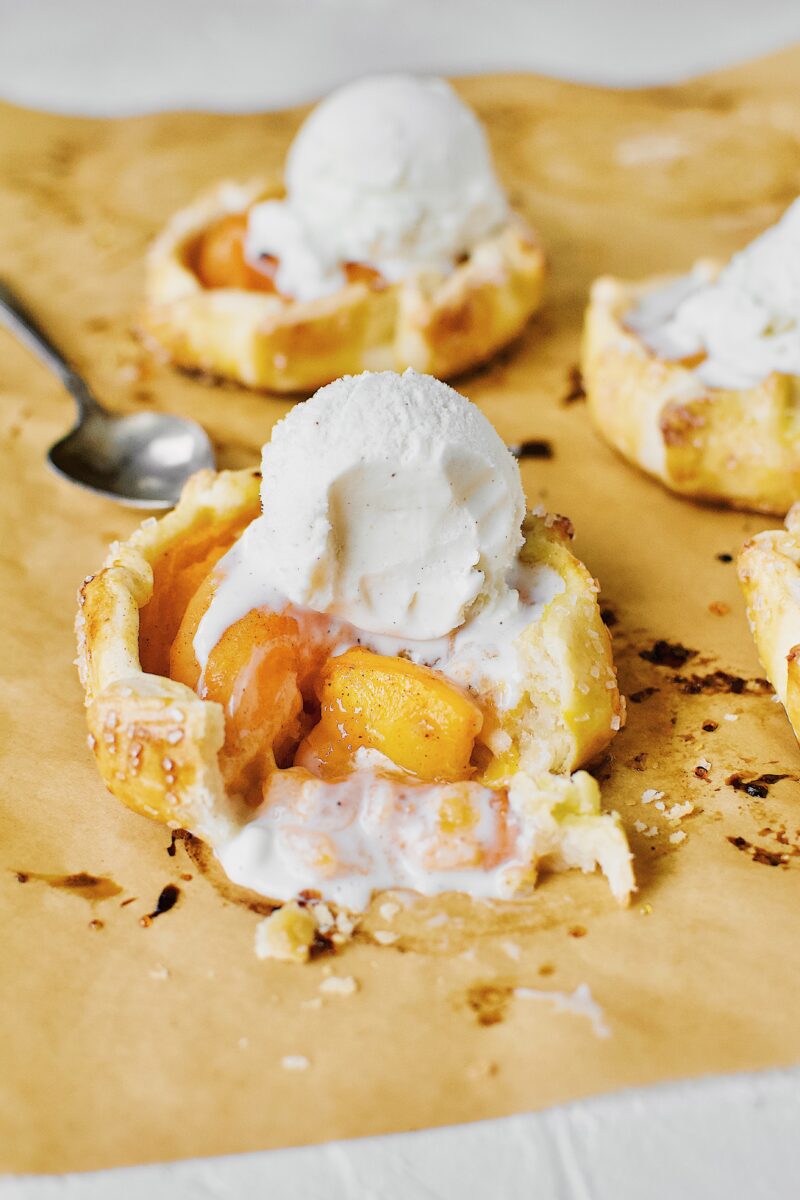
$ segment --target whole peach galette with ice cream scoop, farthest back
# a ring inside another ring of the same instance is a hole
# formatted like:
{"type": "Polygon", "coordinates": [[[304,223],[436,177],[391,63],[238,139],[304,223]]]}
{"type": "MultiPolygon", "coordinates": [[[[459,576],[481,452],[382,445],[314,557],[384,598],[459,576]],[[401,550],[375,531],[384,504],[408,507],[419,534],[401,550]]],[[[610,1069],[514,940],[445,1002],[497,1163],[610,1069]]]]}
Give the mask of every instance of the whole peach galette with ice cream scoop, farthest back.
{"type": "Polygon", "coordinates": [[[521,332],[543,276],[474,113],[441,80],[384,76],[312,113],[285,190],[225,182],[173,217],[140,325],[178,366],[278,392],[447,377],[521,332]]]}

